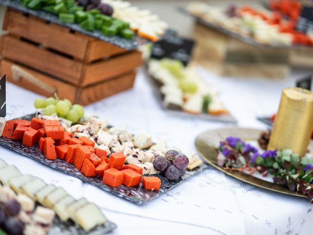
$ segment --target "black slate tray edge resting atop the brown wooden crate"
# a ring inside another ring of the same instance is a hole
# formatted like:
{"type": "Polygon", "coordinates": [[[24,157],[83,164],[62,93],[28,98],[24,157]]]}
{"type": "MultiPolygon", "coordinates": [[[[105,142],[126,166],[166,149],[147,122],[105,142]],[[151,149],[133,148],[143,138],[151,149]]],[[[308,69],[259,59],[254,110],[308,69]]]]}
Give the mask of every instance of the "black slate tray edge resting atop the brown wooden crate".
{"type": "Polygon", "coordinates": [[[87,30],[81,28],[79,26],[79,24],[76,24],[76,23],[70,24],[70,23],[60,22],[57,15],[47,13],[43,10],[29,9],[29,8],[25,7],[24,5],[22,5],[22,3],[20,3],[20,0],[0,0],[0,4],[5,5],[7,7],[11,7],[11,8],[18,10],[18,11],[39,17],[41,19],[44,19],[45,21],[49,21],[49,22],[52,22],[55,24],[66,26],[72,30],[81,32],[83,34],[86,34],[86,35],[89,35],[91,37],[103,40],[103,41],[108,42],[108,43],[114,44],[118,47],[123,47],[127,50],[132,50],[132,49],[135,49],[135,48],[137,48],[143,44],[151,42],[150,40],[139,37],[139,36],[135,36],[134,39],[125,39],[125,38],[122,38],[120,36],[114,36],[114,37],[105,36],[99,30],[94,30],[94,31],[90,32],[90,31],[87,31],[87,30]]]}

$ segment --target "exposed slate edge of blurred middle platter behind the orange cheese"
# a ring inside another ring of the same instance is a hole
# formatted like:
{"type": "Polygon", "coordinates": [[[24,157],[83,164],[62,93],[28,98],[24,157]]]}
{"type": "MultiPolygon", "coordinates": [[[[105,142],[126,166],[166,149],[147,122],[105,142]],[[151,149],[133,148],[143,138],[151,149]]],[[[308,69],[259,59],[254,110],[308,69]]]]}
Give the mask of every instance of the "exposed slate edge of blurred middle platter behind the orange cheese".
{"type": "Polygon", "coordinates": [[[184,118],[201,118],[206,119],[209,121],[218,121],[218,122],[225,122],[225,123],[234,123],[237,124],[237,120],[231,115],[231,114],[224,114],[224,115],[210,115],[210,114],[190,114],[187,112],[182,111],[181,109],[178,109],[176,107],[167,107],[163,103],[163,97],[160,92],[160,86],[161,84],[150,74],[148,74],[147,66],[146,66],[146,77],[149,80],[149,83],[151,84],[154,93],[156,94],[157,99],[159,100],[161,106],[163,109],[165,109],[166,112],[172,115],[177,115],[184,118]]]}

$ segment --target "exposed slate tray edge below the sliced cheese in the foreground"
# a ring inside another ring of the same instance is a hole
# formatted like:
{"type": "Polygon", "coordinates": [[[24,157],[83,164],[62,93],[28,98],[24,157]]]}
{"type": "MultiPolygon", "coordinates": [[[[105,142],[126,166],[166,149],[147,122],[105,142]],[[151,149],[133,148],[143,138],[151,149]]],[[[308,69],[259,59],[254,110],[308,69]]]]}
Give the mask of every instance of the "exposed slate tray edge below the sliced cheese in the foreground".
{"type": "Polygon", "coordinates": [[[55,216],[48,235],[103,235],[114,229],[116,229],[116,224],[107,221],[105,225],[97,226],[86,232],[81,227],[76,226],[72,221],[64,222],[58,216],[55,216]]]}

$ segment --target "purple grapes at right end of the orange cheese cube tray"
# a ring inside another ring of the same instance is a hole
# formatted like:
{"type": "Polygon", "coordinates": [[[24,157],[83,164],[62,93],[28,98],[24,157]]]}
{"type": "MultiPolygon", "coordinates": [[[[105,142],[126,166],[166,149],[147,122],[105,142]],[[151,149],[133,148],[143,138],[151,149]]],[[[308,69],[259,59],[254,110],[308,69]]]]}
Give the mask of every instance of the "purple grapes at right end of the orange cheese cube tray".
{"type": "Polygon", "coordinates": [[[157,156],[153,161],[155,169],[172,181],[178,180],[180,176],[186,173],[188,164],[189,159],[176,150],[169,150],[166,152],[165,157],[157,156]]]}

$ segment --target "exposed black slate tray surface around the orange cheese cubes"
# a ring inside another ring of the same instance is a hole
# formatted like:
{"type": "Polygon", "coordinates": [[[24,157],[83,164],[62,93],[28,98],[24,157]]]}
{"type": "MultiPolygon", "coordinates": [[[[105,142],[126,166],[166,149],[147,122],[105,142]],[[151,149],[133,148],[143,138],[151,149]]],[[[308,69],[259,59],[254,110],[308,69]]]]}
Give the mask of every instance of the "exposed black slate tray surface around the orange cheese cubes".
{"type": "MultiPolygon", "coordinates": [[[[34,114],[26,115],[19,119],[31,120],[31,118],[35,117],[34,114]]],[[[48,160],[45,158],[45,155],[39,150],[38,145],[35,144],[33,147],[27,147],[22,145],[21,141],[14,141],[11,139],[0,137],[0,145],[18,152],[32,160],[35,160],[39,163],[45,164],[53,169],[59,170],[67,175],[76,177],[83,182],[89,183],[95,187],[101,188],[104,191],[110,192],[118,197],[124,198],[128,201],[131,201],[138,205],[146,204],[147,202],[155,199],[156,197],[162,195],[167,190],[174,188],[187,180],[189,177],[192,177],[199,173],[201,170],[207,168],[207,165],[201,164],[197,168],[193,170],[187,170],[186,174],[183,177],[179,177],[177,181],[170,181],[166,179],[163,175],[160,175],[161,179],[161,187],[159,190],[146,190],[142,187],[142,183],[140,185],[134,187],[126,187],[125,185],[121,185],[119,187],[111,187],[104,184],[99,177],[87,177],[83,173],[81,173],[73,164],[68,164],[64,160],[48,160]]]]}

